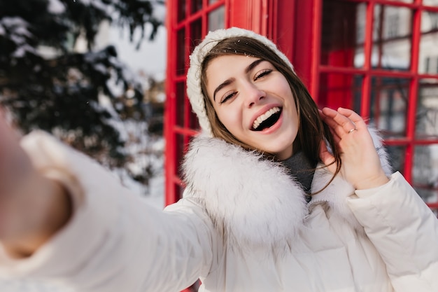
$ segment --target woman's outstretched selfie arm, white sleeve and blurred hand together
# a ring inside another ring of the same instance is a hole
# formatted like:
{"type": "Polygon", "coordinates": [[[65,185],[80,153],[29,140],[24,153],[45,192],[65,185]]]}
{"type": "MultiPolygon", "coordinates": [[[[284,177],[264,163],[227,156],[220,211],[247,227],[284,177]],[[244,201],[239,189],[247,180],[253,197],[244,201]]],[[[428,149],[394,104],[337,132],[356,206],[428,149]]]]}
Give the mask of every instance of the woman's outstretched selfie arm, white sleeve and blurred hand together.
{"type": "Polygon", "coordinates": [[[34,132],[18,144],[6,125],[1,131],[8,133],[1,167],[21,166],[15,176],[3,174],[10,181],[0,181],[0,281],[43,279],[81,292],[173,292],[208,274],[220,241],[197,202],[157,210],[49,134],[34,132]]]}

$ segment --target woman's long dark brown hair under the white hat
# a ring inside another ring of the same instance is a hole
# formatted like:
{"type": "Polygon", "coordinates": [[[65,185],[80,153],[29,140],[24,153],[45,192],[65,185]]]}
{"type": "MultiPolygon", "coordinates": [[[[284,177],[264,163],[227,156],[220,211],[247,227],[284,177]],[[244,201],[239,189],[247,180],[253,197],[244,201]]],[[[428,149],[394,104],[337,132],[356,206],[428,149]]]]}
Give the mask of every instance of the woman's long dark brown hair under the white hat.
{"type": "MultiPolygon", "coordinates": [[[[244,55],[266,60],[273,64],[274,67],[285,76],[290,85],[290,89],[292,90],[299,118],[298,134],[293,142],[293,153],[302,151],[310,161],[320,161],[320,143],[325,143],[327,141],[332,149],[334,163],[337,164],[337,171],[334,174],[336,175],[341,168],[340,153],[334,144],[330,128],[323,123],[323,120],[320,118],[318,106],[312,99],[306,86],[304,86],[292,68],[290,68],[290,66],[286,64],[273,50],[255,39],[244,36],[224,39],[214,46],[214,48],[204,57],[201,72],[201,88],[204,95],[204,102],[206,104],[206,113],[211,123],[213,135],[224,139],[229,143],[240,145],[247,150],[260,151],[248,144],[242,143],[227,130],[227,128],[220,122],[216,111],[213,108],[213,104],[211,103],[211,99],[209,99],[207,95],[206,69],[212,60],[223,55],[244,55]]],[[[264,155],[272,157],[270,153],[264,153],[264,155]]]]}

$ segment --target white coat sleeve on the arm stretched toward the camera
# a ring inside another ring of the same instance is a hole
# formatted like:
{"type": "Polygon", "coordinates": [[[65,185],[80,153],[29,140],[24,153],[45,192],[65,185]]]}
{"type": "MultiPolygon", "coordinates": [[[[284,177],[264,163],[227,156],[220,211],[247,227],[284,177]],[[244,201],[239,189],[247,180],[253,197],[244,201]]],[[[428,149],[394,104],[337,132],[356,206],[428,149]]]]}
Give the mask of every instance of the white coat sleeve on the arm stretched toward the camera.
{"type": "Polygon", "coordinates": [[[183,199],[160,211],[48,134],[31,134],[22,146],[38,169],[76,186],[76,207],[31,257],[7,258],[0,246],[0,279],[48,279],[81,292],[175,292],[209,272],[218,240],[197,202],[183,199]]]}

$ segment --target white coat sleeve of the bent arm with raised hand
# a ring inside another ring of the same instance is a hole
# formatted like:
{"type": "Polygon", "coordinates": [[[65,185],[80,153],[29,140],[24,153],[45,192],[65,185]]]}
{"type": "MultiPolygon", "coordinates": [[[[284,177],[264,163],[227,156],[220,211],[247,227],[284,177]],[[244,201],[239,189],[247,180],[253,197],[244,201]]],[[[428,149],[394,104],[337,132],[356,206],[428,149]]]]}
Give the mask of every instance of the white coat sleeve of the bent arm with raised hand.
{"type": "Polygon", "coordinates": [[[402,174],[355,194],[348,204],[385,261],[395,291],[438,291],[438,220],[402,174]]]}

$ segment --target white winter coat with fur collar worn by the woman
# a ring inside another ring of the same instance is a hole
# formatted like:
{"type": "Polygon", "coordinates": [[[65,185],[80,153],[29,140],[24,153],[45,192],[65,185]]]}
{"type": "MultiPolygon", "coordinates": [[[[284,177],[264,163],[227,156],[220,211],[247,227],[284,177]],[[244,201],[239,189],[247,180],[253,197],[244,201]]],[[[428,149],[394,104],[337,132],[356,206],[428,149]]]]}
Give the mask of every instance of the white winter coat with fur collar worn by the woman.
{"type": "MultiPolygon", "coordinates": [[[[80,292],[176,292],[198,277],[200,291],[438,291],[437,218],[398,172],[369,190],[337,177],[307,204],[281,165],[199,137],[185,197],[162,212],[47,134],[22,145],[76,210],[30,258],[0,249],[0,277],[80,292]]],[[[329,179],[317,169],[312,190],[329,179]]]]}

